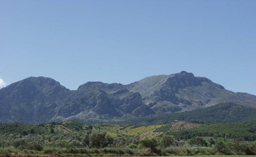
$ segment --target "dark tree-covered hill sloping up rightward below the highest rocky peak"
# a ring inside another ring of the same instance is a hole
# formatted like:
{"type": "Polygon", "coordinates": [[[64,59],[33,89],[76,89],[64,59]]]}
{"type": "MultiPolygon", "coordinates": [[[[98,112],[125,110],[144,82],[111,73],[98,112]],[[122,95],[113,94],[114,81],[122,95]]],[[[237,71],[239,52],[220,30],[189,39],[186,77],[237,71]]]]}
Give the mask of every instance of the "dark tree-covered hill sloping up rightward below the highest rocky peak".
{"type": "Polygon", "coordinates": [[[126,120],[126,123],[141,125],[167,124],[175,120],[197,123],[231,123],[243,122],[251,119],[256,119],[256,108],[249,108],[234,103],[220,103],[214,106],[198,108],[181,113],[128,119],[126,120]]]}

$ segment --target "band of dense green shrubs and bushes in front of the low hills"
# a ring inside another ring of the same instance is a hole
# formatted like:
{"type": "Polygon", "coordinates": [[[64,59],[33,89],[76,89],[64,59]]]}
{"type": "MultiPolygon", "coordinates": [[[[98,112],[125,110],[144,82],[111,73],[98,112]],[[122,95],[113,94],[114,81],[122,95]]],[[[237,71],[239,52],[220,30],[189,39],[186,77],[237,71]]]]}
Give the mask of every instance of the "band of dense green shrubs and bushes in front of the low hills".
{"type": "Polygon", "coordinates": [[[0,154],[36,153],[76,156],[149,156],[149,155],[255,155],[256,142],[242,139],[206,140],[193,137],[176,140],[173,135],[159,138],[112,137],[104,132],[88,131],[85,134],[0,135],[0,154]]]}

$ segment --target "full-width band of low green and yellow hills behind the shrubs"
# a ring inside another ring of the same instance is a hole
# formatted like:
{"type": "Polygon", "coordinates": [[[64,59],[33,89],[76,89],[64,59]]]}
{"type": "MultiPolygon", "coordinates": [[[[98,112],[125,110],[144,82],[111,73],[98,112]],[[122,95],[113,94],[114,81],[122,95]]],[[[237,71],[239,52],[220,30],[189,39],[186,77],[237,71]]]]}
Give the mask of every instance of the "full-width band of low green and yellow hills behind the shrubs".
{"type": "Polygon", "coordinates": [[[0,123],[0,135],[86,135],[91,131],[105,132],[112,137],[151,138],[162,135],[174,135],[178,140],[193,137],[225,137],[242,138],[247,141],[256,140],[256,120],[226,124],[196,124],[175,121],[158,125],[127,125],[127,124],[94,124],[92,126],[75,121],[50,122],[39,125],[0,123]]]}

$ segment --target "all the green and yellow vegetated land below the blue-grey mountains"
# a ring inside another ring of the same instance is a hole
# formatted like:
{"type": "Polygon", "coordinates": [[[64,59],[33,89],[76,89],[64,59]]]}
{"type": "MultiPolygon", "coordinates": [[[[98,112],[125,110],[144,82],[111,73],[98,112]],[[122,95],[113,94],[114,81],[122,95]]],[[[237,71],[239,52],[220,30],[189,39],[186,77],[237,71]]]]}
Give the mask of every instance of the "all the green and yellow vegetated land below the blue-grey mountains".
{"type": "Polygon", "coordinates": [[[182,121],[152,126],[9,123],[0,124],[0,156],[256,155],[254,128],[255,121],[225,126],[182,121]]]}

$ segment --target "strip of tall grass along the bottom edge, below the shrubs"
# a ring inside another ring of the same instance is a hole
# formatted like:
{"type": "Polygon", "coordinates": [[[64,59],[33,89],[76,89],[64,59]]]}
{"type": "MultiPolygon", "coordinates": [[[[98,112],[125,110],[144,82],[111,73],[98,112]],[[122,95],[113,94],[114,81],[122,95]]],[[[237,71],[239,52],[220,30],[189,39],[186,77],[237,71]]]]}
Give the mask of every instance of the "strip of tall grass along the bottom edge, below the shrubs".
{"type": "Polygon", "coordinates": [[[222,155],[209,147],[172,147],[162,150],[161,154],[152,153],[150,149],[130,148],[58,148],[44,147],[43,150],[20,150],[14,147],[0,147],[0,157],[131,157],[131,156],[166,156],[166,157],[256,157],[256,155],[222,155]],[[189,153],[187,153],[189,152],[189,153]],[[129,154],[130,153],[130,154],[129,154]],[[216,155],[219,154],[219,155],[216,155]],[[2,155],[2,156],[1,156],[2,155]]]}

